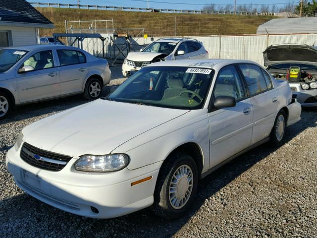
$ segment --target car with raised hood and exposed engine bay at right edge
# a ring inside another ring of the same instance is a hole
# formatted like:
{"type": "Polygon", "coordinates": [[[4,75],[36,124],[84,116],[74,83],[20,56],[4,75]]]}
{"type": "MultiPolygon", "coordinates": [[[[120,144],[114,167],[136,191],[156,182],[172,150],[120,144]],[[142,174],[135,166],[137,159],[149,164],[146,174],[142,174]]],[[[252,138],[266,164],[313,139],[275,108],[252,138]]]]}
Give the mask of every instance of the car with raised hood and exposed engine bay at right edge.
{"type": "Polygon", "coordinates": [[[301,44],[269,46],[264,65],[277,79],[286,80],[302,107],[317,107],[317,48],[301,44]]]}

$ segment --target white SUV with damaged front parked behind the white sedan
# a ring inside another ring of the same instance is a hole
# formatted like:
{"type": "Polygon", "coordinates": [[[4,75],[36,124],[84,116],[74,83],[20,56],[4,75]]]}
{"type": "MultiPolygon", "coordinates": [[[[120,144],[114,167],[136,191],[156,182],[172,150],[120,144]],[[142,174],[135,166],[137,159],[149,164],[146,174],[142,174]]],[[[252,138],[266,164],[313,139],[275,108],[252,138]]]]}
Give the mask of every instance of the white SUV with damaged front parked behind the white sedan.
{"type": "Polygon", "coordinates": [[[202,42],[191,38],[161,38],[140,52],[130,52],[122,64],[122,74],[131,76],[142,67],[163,60],[208,59],[202,42]]]}

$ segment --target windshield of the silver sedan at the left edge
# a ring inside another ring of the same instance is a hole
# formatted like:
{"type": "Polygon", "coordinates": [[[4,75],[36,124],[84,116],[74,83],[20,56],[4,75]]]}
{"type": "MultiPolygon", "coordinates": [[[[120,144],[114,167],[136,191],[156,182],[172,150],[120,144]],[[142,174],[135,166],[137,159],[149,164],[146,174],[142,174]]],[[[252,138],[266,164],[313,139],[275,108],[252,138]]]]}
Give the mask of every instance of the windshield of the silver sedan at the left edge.
{"type": "Polygon", "coordinates": [[[17,61],[21,60],[28,51],[1,49],[0,50],[0,72],[3,73],[11,68],[17,61]]]}

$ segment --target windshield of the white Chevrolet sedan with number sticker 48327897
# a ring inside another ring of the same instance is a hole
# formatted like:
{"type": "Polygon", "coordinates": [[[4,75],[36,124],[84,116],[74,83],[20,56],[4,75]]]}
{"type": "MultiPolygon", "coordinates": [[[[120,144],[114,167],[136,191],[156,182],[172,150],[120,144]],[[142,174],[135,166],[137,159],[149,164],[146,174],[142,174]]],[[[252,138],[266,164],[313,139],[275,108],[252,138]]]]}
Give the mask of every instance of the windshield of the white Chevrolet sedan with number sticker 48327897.
{"type": "Polygon", "coordinates": [[[213,71],[206,68],[151,66],[134,73],[107,100],[163,108],[201,109],[213,71]]]}

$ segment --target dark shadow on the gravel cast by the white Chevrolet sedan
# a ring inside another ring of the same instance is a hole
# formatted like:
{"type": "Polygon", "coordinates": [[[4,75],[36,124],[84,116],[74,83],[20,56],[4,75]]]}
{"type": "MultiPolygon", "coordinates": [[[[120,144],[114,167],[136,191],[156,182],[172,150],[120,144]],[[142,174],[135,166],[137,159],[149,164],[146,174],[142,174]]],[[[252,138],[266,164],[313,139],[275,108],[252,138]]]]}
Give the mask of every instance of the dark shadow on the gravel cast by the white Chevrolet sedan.
{"type": "MultiPolygon", "coordinates": [[[[316,111],[304,112],[303,114],[302,116],[305,117],[303,117],[301,122],[288,127],[285,143],[292,140],[292,138],[303,130],[317,126],[316,111]]],[[[20,219],[26,218],[32,230],[43,232],[43,228],[45,228],[45,234],[40,233],[42,236],[54,234],[56,237],[66,237],[69,233],[76,231],[77,234],[73,235],[80,237],[169,238],[187,224],[199,209],[204,209],[202,206],[206,199],[212,197],[222,187],[229,184],[232,180],[236,179],[275,150],[276,148],[270,147],[269,144],[264,144],[239,156],[210,176],[202,179],[199,182],[193,208],[190,209],[187,216],[179,220],[169,221],[160,219],[153,215],[150,209],[144,209],[114,219],[90,219],[60,211],[39,202],[31,196],[22,194],[0,202],[2,214],[2,216],[0,216],[0,226],[8,224],[8,221],[16,221],[15,226],[17,227],[15,229],[18,229],[19,225],[17,224],[24,221],[20,219]],[[54,224],[52,224],[52,221],[54,224]]],[[[222,205],[225,207],[226,204],[224,203],[222,205]]],[[[219,219],[221,219],[221,217],[219,217],[219,219]]],[[[190,236],[190,234],[188,234],[188,236],[190,236]]]]}

